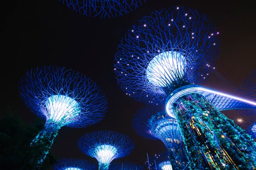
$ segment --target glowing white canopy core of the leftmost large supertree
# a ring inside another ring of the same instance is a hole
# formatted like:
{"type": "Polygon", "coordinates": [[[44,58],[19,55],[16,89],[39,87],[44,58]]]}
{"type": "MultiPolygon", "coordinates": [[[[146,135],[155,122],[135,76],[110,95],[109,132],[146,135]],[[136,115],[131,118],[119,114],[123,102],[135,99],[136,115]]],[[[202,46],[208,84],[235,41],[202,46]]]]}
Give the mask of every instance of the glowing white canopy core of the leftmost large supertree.
{"type": "Polygon", "coordinates": [[[81,112],[78,102],[65,95],[52,95],[45,102],[48,119],[58,122],[73,119],[81,112]]]}

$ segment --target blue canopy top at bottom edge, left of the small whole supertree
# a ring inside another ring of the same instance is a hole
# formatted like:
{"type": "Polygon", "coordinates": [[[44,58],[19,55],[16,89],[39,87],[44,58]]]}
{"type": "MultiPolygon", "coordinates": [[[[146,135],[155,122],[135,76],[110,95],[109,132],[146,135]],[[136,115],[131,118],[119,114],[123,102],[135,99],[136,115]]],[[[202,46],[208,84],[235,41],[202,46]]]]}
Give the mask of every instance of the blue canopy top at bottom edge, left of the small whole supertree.
{"type": "Polygon", "coordinates": [[[82,159],[63,158],[54,165],[54,170],[97,170],[97,166],[82,159]]]}

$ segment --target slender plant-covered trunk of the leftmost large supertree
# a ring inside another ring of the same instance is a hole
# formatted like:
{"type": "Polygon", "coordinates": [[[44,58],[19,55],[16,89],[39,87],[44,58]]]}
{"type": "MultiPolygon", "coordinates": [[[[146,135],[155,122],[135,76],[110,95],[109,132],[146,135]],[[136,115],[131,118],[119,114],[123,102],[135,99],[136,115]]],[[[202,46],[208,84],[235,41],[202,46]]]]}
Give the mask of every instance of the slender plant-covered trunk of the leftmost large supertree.
{"type": "Polygon", "coordinates": [[[30,146],[34,151],[33,164],[36,170],[40,170],[43,161],[54,142],[55,137],[58,135],[58,126],[55,124],[45,124],[45,127],[38,135],[33,139],[30,146]]]}

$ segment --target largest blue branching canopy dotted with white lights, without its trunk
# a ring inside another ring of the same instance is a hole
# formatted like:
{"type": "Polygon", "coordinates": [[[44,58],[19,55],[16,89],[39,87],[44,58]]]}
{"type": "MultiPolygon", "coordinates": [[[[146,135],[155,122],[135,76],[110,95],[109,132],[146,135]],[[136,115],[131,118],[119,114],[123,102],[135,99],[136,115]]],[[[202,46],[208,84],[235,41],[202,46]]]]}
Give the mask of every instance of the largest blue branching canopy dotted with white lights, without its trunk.
{"type": "Polygon", "coordinates": [[[153,12],[133,25],[117,48],[119,85],[140,101],[160,103],[178,87],[204,82],[219,53],[218,34],[196,10],[153,12]]]}

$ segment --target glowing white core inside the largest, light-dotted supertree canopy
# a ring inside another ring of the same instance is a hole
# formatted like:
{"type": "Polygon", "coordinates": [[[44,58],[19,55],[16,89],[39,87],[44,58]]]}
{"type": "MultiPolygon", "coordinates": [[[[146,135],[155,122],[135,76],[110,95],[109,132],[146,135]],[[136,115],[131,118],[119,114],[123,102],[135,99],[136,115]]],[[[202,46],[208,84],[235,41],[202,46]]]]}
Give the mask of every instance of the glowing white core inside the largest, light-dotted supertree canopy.
{"type": "Polygon", "coordinates": [[[148,64],[146,75],[148,81],[161,87],[171,84],[184,75],[185,57],[176,51],[162,52],[148,64]]]}

